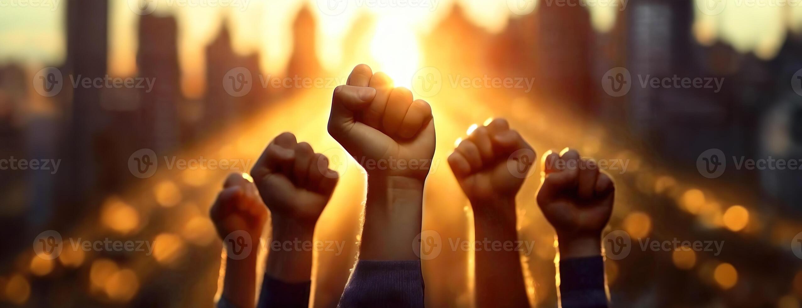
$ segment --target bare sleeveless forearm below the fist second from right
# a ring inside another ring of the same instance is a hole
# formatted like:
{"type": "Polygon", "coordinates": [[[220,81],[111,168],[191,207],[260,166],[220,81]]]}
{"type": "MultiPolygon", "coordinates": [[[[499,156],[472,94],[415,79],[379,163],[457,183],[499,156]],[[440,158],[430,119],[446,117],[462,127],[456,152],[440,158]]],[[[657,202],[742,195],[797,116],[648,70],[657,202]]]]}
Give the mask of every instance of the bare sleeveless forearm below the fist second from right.
{"type": "Polygon", "coordinates": [[[476,241],[490,243],[488,247],[476,249],[476,306],[529,306],[520,266],[520,252],[514,249],[518,240],[515,201],[500,199],[471,203],[474,209],[476,241]],[[484,204],[488,202],[499,204],[484,204]],[[500,243],[500,246],[493,244],[494,242],[500,243]],[[511,242],[513,249],[492,249],[494,245],[504,247],[505,242],[511,242]]]}

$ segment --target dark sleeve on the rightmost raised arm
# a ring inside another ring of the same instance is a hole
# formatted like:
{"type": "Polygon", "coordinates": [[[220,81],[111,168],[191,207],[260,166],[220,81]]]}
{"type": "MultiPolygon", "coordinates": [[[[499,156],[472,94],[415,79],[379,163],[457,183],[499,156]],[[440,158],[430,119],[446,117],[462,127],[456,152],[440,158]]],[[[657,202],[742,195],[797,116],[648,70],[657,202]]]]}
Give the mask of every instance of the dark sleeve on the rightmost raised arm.
{"type": "Polygon", "coordinates": [[[607,307],[601,256],[560,260],[560,302],[562,308],[607,307]]]}

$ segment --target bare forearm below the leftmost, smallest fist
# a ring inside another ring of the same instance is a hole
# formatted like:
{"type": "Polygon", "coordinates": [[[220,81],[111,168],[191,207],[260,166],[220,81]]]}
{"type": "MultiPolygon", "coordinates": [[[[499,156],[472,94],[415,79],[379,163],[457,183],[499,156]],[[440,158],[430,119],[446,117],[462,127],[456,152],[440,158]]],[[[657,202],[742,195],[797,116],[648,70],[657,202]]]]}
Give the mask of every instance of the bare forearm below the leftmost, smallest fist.
{"type": "Polygon", "coordinates": [[[237,308],[253,307],[256,295],[256,261],[256,253],[242,260],[226,260],[222,301],[237,308]]]}

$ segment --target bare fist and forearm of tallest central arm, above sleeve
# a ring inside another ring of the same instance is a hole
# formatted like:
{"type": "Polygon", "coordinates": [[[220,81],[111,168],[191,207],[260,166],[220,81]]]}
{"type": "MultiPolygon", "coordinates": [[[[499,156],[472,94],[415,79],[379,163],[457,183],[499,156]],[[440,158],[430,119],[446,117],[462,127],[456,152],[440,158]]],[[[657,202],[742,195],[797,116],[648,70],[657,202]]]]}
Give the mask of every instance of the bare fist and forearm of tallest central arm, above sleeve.
{"type": "Polygon", "coordinates": [[[364,64],[354,67],[333,96],[329,134],[368,175],[359,257],[417,259],[410,245],[420,233],[423,183],[435,152],[431,107],[364,64]],[[391,160],[407,167],[388,165],[391,160]]]}

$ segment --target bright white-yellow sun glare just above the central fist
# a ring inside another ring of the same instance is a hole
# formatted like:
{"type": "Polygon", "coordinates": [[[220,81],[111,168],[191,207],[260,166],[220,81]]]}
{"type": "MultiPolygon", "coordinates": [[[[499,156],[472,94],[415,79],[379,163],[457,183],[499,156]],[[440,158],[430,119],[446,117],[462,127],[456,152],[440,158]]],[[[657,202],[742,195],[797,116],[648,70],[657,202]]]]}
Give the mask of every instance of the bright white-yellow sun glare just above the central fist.
{"type": "Polygon", "coordinates": [[[379,21],[371,42],[371,55],[379,67],[395,82],[396,87],[411,87],[412,76],[419,69],[419,46],[415,33],[395,18],[379,21]]]}

